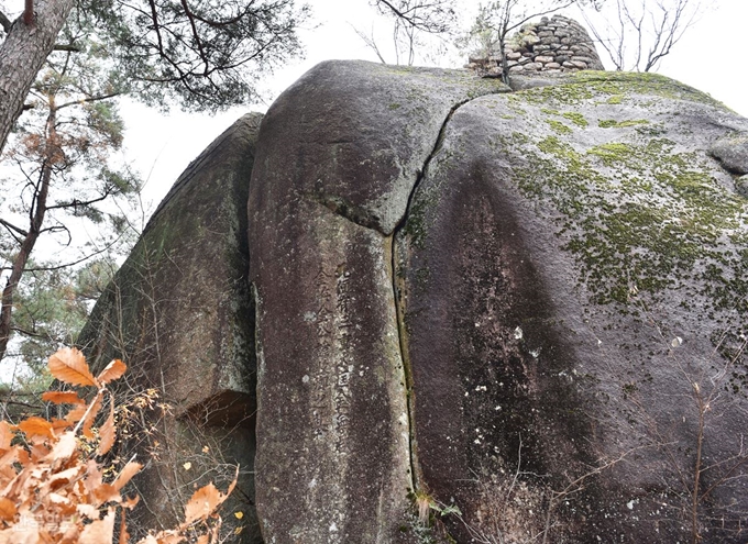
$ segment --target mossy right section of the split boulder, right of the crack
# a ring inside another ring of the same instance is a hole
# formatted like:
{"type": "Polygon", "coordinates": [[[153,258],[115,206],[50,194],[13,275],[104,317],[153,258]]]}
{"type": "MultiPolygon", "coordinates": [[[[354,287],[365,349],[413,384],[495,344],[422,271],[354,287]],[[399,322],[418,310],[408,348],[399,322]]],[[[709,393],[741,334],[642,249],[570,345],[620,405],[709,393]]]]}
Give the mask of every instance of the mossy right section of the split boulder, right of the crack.
{"type": "Polygon", "coordinates": [[[396,236],[422,485],[458,542],[737,542],[748,203],[708,149],[748,121],[541,82],[453,114],[396,236]]]}

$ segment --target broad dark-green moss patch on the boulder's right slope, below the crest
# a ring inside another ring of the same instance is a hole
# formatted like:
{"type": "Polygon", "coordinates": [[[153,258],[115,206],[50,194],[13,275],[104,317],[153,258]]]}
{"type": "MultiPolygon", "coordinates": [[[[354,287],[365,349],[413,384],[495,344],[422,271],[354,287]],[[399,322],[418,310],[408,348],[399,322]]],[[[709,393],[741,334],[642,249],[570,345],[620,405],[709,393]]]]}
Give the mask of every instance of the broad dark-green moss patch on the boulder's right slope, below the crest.
{"type": "Polygon", "coordinates": [[[549,202],[557,234],[580,263],[580,285],[598,304],[629,306],[631,292],[663,300],[683,280],[714,309],[748,295],[748,207],[712,177],[705,157],[667,138],[579,149],[559,136],[509,137],[526,166],[520,191],[549,202]]]}

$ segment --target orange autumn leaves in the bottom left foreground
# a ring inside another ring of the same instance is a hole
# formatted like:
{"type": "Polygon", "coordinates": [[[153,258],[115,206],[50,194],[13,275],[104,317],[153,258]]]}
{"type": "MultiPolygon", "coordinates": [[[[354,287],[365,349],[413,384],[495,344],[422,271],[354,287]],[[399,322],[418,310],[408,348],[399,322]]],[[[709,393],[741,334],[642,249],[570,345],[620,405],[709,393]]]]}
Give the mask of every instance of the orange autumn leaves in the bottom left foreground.
{"type": "MultiPolygon", "coordinates": [[[[0,421],[0,544],[128,544],[125,511],[138,503],[138,497],[123,497],[122,488],[141,465],[131,460],[112,478],[105,476],[105,467],[96,459],[117,441],[114,402],[107,386],[127,366],[116,359],[94,376],[78,349],[63,348],[50,357],[48,367],[57,380],[96,388],[96,393],[86,402],[75,391],[47,391],[44,400],[70,407],[64,418],[32,417],[18,424],[0,421]],[[106,421],[96,429],[96,417],[107,398],[106,421]],[[88,444],[94,441],[96,448],[81,447],[81,435],[88,444]]],[[[212,484],[198,489],[185,506],[179,526],[148,534],[138,544],[178,544],[188,542],[187,534],[197,544],[218,542],[217,510],[235,484],[237,478],[226,493],[212,484]],[[204,523],[208,520],[216,523],[209,526],[204,523]]]]}

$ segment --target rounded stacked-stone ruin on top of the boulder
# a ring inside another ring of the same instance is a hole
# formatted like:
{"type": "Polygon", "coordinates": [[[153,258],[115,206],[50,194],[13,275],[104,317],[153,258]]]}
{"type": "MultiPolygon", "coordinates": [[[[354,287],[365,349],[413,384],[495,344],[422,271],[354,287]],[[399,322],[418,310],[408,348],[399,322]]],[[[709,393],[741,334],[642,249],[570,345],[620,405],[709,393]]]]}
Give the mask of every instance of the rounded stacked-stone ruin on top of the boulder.
{"type": "MultiPolygon", "coordinates": [[[[563,15],[530,23],[504,44],[510,73],[603,70],[603,63],[587,31],[563,15]]],[[[470,58],[469,68],[488,76],[502,74],[497,49],[470,58]]]]}

